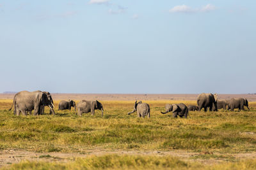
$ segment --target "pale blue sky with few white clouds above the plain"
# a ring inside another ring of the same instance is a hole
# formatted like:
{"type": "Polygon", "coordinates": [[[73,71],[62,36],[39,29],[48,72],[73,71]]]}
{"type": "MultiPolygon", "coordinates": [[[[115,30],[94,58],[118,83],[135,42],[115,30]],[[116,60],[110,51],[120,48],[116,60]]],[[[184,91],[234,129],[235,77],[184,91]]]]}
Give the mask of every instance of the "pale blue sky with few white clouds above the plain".
{"type": "Polygon", "coordinates": [[[256,92],[255,0],[0,0],[0,92],[256,92]]]}

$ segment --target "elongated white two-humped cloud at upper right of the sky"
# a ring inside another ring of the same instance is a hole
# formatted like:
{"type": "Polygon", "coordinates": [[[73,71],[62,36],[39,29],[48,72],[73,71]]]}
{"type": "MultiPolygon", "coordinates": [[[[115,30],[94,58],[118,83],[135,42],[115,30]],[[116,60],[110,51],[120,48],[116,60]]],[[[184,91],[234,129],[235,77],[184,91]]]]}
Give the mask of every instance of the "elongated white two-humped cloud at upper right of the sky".
{"type": "Polygon", "coordinates": [[[169,10],[170,13],[196,13],[196,12],[208,12],[216,10],[216,7],[212,4],[207,4],[201,8],[191,8],[185,4],[174,6],[169,10]]]}

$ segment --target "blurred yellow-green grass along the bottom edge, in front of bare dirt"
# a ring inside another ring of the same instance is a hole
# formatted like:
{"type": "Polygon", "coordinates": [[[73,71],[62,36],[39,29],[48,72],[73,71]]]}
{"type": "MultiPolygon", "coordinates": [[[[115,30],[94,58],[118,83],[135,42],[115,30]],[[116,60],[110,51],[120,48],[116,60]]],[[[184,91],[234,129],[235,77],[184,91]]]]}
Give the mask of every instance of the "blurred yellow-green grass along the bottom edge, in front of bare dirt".
{"type": "MultiPolygon", "coordinates": [[[[213,156],[211,156],[213,157],[213,156]]],[[[202,157],[204,159],[204,157],[202,157]]],[[[89,156],[66,163],[22,161],[3,169],[256,169],[256,159],[225,162],[221,164],[198,164],[170,156],[103,155],[89,156]]]]}

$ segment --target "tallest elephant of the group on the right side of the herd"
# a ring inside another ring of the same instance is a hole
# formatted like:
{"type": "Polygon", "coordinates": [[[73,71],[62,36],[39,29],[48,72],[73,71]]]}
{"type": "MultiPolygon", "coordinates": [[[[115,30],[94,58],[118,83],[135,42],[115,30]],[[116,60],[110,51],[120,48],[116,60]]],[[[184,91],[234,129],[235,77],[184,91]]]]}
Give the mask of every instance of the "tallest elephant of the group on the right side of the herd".
{"type": "MultiPolygon", "coordinates": [[[[202,93],[197,97],[197,105],[199,107],[199,111],[201,111],[202,108],[204,108],[204,111],[207,111],[207,108],[209,108],[209,111],[212,111],[212,105],[216,106],[216,101],[218,99],[217,94],[205,94],[202,93]]],[[[215,110],[218,111],[218,108],[215,110]]]]}

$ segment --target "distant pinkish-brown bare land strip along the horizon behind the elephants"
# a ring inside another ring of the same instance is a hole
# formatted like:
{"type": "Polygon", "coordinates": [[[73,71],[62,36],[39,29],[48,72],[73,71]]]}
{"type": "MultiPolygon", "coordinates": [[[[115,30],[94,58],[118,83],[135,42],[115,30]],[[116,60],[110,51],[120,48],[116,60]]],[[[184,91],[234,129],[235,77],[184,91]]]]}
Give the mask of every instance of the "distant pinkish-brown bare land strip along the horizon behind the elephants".
{"type": "MultiPolygon", "coordinates": [[[[51,93],[53,100],[93,100],[99,101],[195,101],[198,94],[56,94],[51,93]]],[[[15,94],[0,94],[0,99],[13,99],[15,94]]],[[[245,97],[248,101],[256,101],[256,94],[218,94],[219,99],[245,97]]]]}

